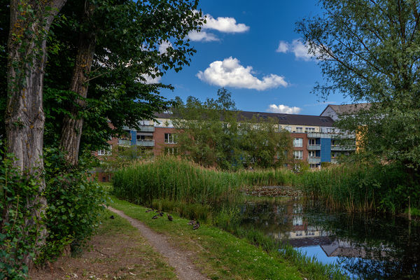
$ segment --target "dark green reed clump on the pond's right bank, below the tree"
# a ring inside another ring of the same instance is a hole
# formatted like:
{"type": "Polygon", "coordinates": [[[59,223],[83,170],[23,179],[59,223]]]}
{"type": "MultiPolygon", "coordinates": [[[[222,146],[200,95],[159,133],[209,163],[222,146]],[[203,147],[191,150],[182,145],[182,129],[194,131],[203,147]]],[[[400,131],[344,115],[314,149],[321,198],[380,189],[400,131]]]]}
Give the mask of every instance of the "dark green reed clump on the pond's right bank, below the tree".
{"type": "Polygon", "coordinates": [[[332,209],[351,212],[395,213],[404,209],[409,195],[406,174],[392,165],[342,165],[307,172],[301,174],[297,186],[332,209]]]}

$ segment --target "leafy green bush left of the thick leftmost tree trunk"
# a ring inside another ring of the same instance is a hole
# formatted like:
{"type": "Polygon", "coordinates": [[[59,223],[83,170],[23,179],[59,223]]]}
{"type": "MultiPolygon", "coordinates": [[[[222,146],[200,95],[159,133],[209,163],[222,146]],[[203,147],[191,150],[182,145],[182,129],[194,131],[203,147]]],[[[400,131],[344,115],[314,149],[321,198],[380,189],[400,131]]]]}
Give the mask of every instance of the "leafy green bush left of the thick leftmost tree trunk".
{"type": "Polygon", "coordinates": [[[33,204],[39,185],[13,167],[13,155],[3,154],[0,160],[0,279],[25,279],[23,258],[36,244],[36,225],[25,225],[31,218],[27,205],[33,204]]]}

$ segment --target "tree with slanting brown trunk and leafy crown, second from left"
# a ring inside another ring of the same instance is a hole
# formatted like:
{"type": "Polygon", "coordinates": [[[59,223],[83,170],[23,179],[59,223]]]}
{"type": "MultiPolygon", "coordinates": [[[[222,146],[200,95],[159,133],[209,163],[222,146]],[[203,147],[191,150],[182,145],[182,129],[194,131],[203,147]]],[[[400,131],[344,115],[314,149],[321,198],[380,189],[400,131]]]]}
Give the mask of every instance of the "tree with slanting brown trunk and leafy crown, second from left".
{"type": "MultiPolygon", "coordinates": [[[[167,69],[179,71],[189,63],[195,50],[189,47],[186,36],[189,31],[200,29],[204,21],[201,13],[195,11],[197,1],[76,2],[82,3],[73,3],[63,10],[78,32],[78,41],[71,42],[76,45],[76,58],[69,85],[69,91],[76,94],[64,117],[60,139],[60,146],[71,165],[78,162],[90,85],[95,85],[101,78],[98,83],[105,98],[118,91],[120,98],[130,96],[133,99],[130,90],[139,91],[135,99],[144,109],[132,103],[137,109],[136,120],[152,118],[153,111],[164,104],[161,98],[154,96],[163,85],[145,85],[147,79],[160,77],[167,69]],[[92,66],[94,70],[91,71],[92,66]]],[[[96,87],[92,91],[101,90],[96,87]]],[[[107,99],[116,104],[113,98],[107,99]]],[[[133,110],[130,113],[134,113],[133,110]]]]}

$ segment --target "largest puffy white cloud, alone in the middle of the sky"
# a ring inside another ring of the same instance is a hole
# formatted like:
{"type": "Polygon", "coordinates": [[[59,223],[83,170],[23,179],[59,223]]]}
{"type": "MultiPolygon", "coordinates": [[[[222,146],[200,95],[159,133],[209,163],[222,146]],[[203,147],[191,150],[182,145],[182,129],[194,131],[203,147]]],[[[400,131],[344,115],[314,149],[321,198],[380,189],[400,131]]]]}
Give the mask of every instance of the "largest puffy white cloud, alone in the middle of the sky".
{"type": "Polygon", "coordinates": [[[230,86],[252,90],[267,90],[274,87],[286,87],[284,77],[269,74],[259,78],[253,76],[252,66],[242,66],[238,59],[228,57],[223,61],[211,62],[209,67],[197,73],[200,80],[221,87],[230,86]]]}

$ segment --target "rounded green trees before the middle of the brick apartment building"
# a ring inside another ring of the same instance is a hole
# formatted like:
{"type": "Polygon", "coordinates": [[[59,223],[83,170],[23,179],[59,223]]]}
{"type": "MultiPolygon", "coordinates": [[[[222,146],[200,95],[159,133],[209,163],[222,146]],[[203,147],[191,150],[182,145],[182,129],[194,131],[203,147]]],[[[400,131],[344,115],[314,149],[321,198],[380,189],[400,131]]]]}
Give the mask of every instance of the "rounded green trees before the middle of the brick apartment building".
{"type": "Polygon", "coordinates": [[[218,90],[218,99],[205,102],[188,97],[184,104],[176,99],[174,116],[179,153],[200,165],[239,169],[288,162],[288,132],[279,132],[272,119],[241,120],[232,94],[224,88],[218,90]]]}

